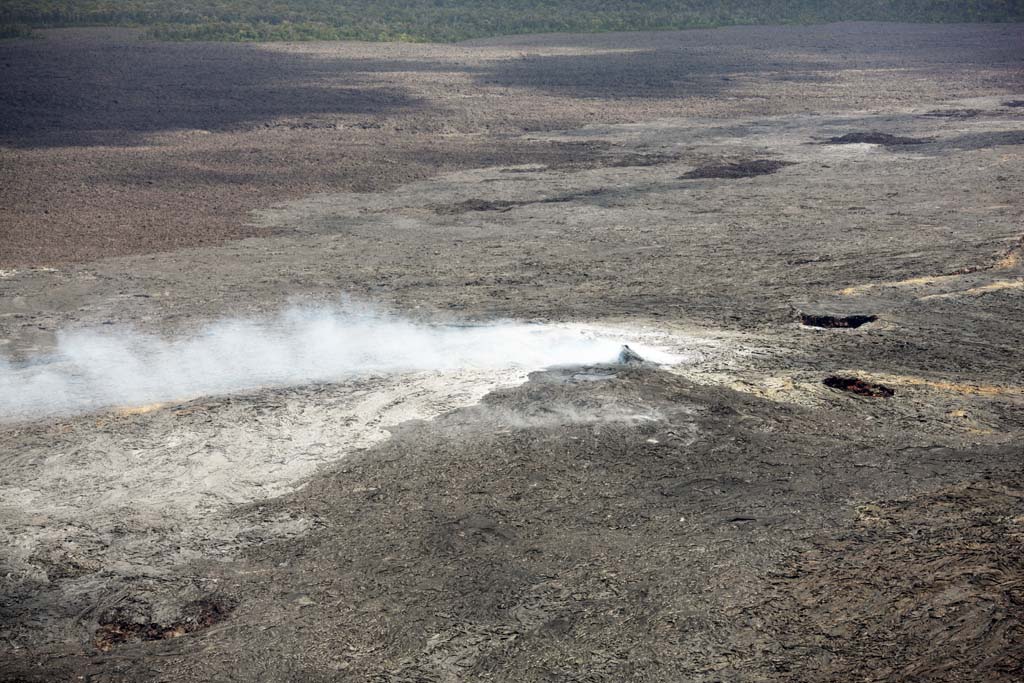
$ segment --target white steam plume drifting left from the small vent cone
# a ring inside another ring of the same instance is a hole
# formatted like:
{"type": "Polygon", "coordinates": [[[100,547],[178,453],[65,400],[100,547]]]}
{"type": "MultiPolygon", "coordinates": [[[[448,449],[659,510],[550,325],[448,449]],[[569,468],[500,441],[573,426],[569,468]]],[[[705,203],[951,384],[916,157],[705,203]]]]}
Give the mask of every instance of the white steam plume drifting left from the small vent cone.
{"type": "Polygon", "coordinates": [[[0,421],[359,375],[610,362],[620,344],[579,328],[430,326],[340,308],[222,321],[172,340],[130,329],[67,331],[45,357],[0,357],[0,421]]]}

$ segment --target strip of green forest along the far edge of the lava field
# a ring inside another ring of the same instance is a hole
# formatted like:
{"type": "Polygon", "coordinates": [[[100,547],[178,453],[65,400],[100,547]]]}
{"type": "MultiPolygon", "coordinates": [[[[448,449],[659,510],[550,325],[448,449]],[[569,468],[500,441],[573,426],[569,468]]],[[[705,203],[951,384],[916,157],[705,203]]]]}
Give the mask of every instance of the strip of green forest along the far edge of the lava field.
{"type": "Polygon", "coordinates": [[[168,40],[443,42],[852,19],[1020,22],[1024,0],[0,0],[2,31],[135,26],[168,40]]]}

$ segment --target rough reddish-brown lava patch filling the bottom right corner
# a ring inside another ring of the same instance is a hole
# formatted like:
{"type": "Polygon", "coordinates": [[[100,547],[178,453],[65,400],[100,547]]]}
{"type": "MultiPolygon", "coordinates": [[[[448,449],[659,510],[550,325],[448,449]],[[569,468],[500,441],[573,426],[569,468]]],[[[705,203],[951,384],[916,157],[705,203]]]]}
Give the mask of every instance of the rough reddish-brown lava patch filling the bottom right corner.
{"type": "Polygon", "coordinates": [[[816,542],[776,583],[781,645],[806,674],[790,680],[1024,680],[1022,485],[862,505],[816,542]]]}

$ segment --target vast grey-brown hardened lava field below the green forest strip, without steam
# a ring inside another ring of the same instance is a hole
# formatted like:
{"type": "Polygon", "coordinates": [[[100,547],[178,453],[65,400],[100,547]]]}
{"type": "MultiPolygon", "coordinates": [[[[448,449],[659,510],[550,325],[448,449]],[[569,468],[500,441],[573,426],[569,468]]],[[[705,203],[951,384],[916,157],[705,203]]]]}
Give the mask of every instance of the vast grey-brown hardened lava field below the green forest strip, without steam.
{"type": "Polygon", "coordinates": [[[1020,680],[1022,45],[3,42],[0,372],[296,302],[668,355],[6,420],[0,680],[1020,680]]]}

